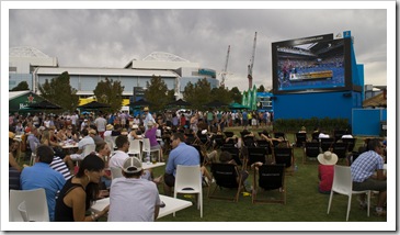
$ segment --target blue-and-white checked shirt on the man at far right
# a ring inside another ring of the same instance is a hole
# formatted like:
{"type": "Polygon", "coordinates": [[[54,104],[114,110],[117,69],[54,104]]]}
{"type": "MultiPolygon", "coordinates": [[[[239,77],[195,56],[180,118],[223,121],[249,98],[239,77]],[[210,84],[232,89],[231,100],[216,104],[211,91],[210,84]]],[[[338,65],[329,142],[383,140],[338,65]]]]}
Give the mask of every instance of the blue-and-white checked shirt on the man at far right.
{"type": "Polygon", "coordinates": [[[375,150],[365,152],[351,166],[353,181],[364,182],[379,169],[384,169],[384,158],[375,150]]]}

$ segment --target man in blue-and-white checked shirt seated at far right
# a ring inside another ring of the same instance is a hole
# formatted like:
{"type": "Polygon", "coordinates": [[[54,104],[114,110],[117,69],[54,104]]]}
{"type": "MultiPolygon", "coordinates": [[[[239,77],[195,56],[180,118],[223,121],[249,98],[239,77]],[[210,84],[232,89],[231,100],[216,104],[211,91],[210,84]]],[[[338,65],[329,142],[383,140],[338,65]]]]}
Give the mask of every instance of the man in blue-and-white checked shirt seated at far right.
{"type": "MultiPolygon", "coordinates": [[[[351,165],[354,191],[379,191],[378,204],[375,209],[377,215],[386,215],[384,205],[387,199],[387,182],[384,175],[382,154],[382,143],[378,138],[373,138],[368,142],[368,152],[361,154],[351,165]]],[[[365,194],[359,195],[359,203],[361,206],[366,208],[365,194]]]]}

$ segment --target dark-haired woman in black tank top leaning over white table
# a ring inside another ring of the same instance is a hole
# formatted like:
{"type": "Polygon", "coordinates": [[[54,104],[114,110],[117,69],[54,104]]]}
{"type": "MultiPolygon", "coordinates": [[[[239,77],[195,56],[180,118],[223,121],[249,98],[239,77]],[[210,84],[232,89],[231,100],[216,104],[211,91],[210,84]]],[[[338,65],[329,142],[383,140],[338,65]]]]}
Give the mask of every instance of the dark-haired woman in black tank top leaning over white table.
{"type": "Polygon", "coordinates": [[[94,153],[81,163],[77,176],[69,179],[61,189],[55,211],[56,222],[93,222],[108,212],[106,206],[100,213],[85,215],[100,194],[99,182],[104,174],[104,161],[94,153]]]}

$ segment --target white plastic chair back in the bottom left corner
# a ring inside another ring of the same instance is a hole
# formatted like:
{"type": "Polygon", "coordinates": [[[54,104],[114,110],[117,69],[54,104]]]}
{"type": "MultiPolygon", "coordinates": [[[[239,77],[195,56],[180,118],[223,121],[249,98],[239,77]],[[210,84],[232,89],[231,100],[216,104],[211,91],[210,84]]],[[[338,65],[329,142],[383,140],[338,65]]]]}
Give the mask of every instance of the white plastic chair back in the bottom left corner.
{"type": "Polygon", "coordinates": [[[22,222],[21,211],[26,211],[28,221],[49,222],[48,206],[45,189],[10,190],[10,222],[22,222]],[[22,202],[25,201],[25,209],[22,202]],[[20,206],[21,205],[21,206],[20,206]]]}

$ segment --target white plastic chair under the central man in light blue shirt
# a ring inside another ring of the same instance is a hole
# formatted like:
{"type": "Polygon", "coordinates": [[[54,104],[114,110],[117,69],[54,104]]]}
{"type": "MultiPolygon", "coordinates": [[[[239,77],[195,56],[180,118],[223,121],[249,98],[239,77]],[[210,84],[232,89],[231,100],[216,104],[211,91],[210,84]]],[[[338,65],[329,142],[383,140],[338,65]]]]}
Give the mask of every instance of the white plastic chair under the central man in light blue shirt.
{"type": "MultiPolygon", "coordinates": [[[[197,209],[201,210],[201,217],[203,217],[203,187],[202,187],[202,172],[199,165],[176,166],[173,198],[176,198],[178,193],[198,194],[197,209]]],[[[173,213],[173,216],[175,216],[175,213],[173,213]]]]}

